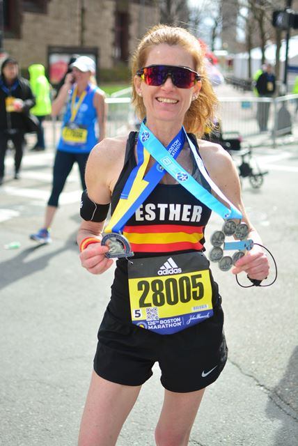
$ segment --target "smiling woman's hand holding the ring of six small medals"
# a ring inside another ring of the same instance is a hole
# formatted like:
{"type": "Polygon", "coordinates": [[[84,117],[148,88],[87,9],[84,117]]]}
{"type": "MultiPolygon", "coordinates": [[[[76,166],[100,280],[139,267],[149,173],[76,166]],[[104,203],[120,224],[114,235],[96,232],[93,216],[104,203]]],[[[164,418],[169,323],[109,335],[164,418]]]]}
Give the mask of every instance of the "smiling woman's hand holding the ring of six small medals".
{"type": "Polygon", "coordinates": [[[236,262],[232,270],[233,274],[239,274],[242,271],[246,272],[251,279],[263,280],[268,277],[269,262],[261,247],[255,245],[236,262]]]}

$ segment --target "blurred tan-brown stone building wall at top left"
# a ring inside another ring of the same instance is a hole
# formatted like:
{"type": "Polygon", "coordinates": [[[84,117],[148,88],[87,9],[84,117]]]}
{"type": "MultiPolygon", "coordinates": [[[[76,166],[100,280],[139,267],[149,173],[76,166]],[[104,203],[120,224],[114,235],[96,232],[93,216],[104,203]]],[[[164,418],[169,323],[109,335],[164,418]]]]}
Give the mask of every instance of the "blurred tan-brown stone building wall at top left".
{"type": "MultiPolygon", "coordinates": [[[[31,63],[47,66],[48,46],[80,46],[81,13],[79,0],[50,0],[47,14],[22,13],[21,38],[5,38],[4,48],[19,61],[22,68],[31,63]]],[[[156,6],[129,2],[129,51],[152,24],[159,22],[156,6]],[[140,20],[141,18],[141,20],[140,20]]],[[[85,2],[83,42],[85,47],[97,47],[100,68],[114,65],[116,0],[88,0],[85,2]]]]}

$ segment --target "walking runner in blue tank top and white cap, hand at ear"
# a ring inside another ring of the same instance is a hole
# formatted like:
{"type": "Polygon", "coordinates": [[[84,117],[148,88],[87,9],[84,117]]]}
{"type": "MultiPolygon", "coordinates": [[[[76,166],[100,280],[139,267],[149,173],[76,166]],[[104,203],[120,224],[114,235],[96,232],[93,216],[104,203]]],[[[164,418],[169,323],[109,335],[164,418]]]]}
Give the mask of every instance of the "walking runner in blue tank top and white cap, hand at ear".
{"type": "Polygon", "coordinates": [[[47,202],[45,221],[42,228],[31,234],[31,240],[51,243],[49,231],[58,208],[58,199],[65,182],[77,162],[81,187],[86,188],[85,167],[88,155],[97,142],[105,137],[107,106],[104,92],[91,82],[95,74],[95,63],[87,56],[80,56],[72,63],[72,72],[65,77],[56,99],[52,103],[52,116],[65,112],[61,137],[54,160],[52,192],[47,202]]]}

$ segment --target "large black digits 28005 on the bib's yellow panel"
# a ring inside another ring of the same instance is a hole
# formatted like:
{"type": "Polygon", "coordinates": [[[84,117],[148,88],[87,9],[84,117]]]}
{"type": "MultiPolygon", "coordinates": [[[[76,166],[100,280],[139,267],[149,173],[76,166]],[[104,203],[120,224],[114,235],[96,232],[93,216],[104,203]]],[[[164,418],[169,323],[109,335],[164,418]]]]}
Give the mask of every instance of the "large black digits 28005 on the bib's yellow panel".
{"type": "Polygon", "coordinates": [[[187,303],[193,300],[201,300],[204,297],[204,284],[202,275],[196,274],[181,277],[168,277],[167,279],[153,279],[152,281],[140,280],[137,284],[141,291],[139,307],[162,307],[165,305],[177,305],[178,302],[187,303]],[[151,302],[150,302],[151,301],[151,302]]]}

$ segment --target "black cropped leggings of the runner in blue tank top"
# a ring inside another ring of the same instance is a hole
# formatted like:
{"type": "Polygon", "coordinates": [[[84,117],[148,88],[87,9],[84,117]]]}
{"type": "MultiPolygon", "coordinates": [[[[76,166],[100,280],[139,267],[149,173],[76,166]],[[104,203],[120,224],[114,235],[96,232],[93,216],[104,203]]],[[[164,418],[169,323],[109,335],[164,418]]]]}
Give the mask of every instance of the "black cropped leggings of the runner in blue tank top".
{"type": "Polygon", "coordinates": [[[79,164],[79,175],[81,177],[81,187],[86,189],[85,167],[89,153],[68,153],[56,151],[53,171],[52,193],[47,202],[48,206],[58,207],[58,199],[63,191],[65,182],[70,174],[72,166],[77,162],[79,164]]]}

